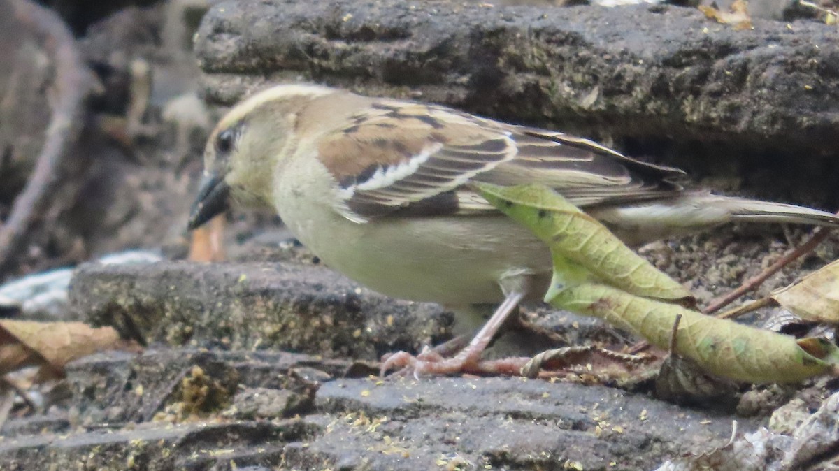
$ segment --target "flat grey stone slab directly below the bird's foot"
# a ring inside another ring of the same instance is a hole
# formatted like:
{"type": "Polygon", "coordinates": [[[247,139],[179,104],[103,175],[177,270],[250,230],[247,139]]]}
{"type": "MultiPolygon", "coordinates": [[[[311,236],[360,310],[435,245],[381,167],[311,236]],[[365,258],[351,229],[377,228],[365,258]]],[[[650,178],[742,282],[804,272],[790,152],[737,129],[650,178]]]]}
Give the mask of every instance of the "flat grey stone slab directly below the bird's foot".
{"type": "Polygon", "coordinates": [[[460,457],[477,469],[648,469],[680,445],[706,449],[731,432],[722,417],[647,396],[519,378],[338,380],[317,397],[329,414],[310,420],[330,432],[305,453],[354,468],[424,469],[431,457],[440,466],[460,457]]]}

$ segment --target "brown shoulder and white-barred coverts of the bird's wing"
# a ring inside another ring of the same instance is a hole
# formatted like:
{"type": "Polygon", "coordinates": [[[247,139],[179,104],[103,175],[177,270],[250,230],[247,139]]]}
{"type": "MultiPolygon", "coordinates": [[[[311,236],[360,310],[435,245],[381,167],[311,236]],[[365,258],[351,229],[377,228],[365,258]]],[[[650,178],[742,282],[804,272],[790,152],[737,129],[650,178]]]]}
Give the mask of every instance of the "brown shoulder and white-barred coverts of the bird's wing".
{"type": "Polygon", "coordinates": [[[456,189],[515,156],[508,134],[440,106],[383,100],[318,150],[351,219],[451,215],[461,211],[456,189]]]}

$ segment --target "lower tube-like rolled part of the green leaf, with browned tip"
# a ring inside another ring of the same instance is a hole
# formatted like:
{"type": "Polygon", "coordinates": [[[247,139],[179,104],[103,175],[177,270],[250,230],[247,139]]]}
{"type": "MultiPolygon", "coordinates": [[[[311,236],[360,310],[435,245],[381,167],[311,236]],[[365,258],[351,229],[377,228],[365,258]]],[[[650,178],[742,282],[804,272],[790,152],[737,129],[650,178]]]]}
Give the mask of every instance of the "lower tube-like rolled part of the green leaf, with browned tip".
{"type": "Polygon", "coordinates": [[[555,308],[603,318],[662,349],[668,348],[676,316],[681,315],[675,353],[733,380],[799,382],[835,375],[839,364],[839,348],[825,339],[796,340],[605,285],[570,287],[549,302],[555,308]]]}

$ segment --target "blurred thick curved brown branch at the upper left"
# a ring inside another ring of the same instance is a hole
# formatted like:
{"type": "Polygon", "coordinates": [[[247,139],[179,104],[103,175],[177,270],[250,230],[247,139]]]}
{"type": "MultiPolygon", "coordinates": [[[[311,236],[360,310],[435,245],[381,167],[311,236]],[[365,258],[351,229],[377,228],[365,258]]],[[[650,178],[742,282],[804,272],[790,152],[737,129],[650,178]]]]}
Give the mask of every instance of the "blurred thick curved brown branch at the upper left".
{"type": "Polygon", "coordinates": [[[23,243],[34,215],[43,212],[59,180],[61,159],[81,131],[84,101],[91,91],[91,75],[76,49],[76,40],[54,12],[30,0],[11,0],[15,17],[44,36],[44,47],[55,60],[55,104],[44,146],[29,181],[14,200],[8,219],[0,226],[0,268],[7,267],[23,243]]]}

